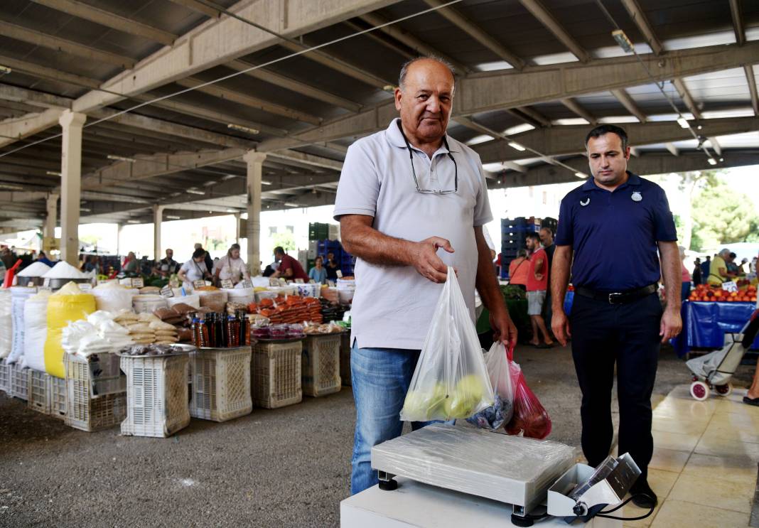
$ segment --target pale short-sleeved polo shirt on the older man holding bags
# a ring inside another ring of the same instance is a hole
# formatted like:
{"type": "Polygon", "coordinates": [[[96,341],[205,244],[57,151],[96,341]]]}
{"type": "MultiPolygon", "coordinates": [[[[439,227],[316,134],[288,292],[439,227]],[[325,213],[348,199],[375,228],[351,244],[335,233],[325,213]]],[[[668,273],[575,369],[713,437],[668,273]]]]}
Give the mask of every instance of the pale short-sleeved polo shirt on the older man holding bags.
{"type": "MultiPolygon", "coordinates": [[[[418,193],[408,149],[394,119],[386,130],[361,138],[348,148],[335,200],[335,219],[368,215],[373,228],[391,237],[418,242],[428,237],[451,241],[455,253],[438,250],[458,270],[458,282],[474,322],[477,244],[474,226],[493,219],[480,156],[446,136],[458,166],[458,192],[418,193]]],[[[420,189],[455,188],[455,167],[443,144],[432,159],[411,146],[420,189]]],[[[357,259],[356,291],[351,309],[358,347],[420,350],[442,284],[419,275],[412,266],[377,266],[357,259]]]]}

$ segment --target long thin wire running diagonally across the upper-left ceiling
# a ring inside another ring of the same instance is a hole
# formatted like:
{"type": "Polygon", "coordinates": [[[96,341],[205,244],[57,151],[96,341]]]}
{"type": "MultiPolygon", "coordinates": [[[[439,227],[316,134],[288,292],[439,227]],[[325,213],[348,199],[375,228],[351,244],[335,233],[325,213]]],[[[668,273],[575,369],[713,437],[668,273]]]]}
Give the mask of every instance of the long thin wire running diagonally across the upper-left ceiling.
{"type": "MultiPolygon", "coordinates": [[[[254,66],[251,66],[250,68],[245,68],[244,70],[241,70],[241,71],[235,71],[232,74],[228,74],[228,75],[225,75],[223,77],[219,77],[218,79],[209,80],[209,81],[206,81],[204,83],[200,83],[197,86],[191,86],[189,88],[184,88],[183,90],[179,90],[178,92],[169,93],[169,94],[167,94],[165,96],[156,97],[155,99],[150,99],[149,101],[146,101],[146,102],[141,102],[138,105],[131,106],[130,108],[125,108],[124,110],[116,112],[113,115],[109,115],[109,116],[106,116],[105,118],[98,119],[97,121],[93,121],[91,123],[84,124],[83,127],[84,128],[93,127],[96,124],[100,124],[100,123],[102,123],[104,121],[110,121],[113,118],[117,118],[120,115],[128,114],[129,112],[134,112],[135,110],[137,110],[139,108],[143,108],[144,106],[152,105],[153,103],[156,103],[156,102],[165,101],[166,99],[171,99],[172,97],[175,97],[175,96],[181,96],[184,93],[193,92],[194,90],[198,90],[200,88],[204,88],[205,86],[211,86],[211,85],[219,83],[219,82],[221,82],[223,80],[228,80],[228,79],[231,79],[231,78],[234,78],[234,77],[238,77],[238,76],[243,75],[243,74],[247,74],[250,71],[258,70],[260,68],[266,68],[267,66],[271,66],[272,64],[276,64],[278,62],[285,61],[288,58],[294,58],[294,57],[298,57],[300,55],[305,55],[305,54],[307,54],[309,52],[313,52],[313,51],[316,51],[318,49],[326,48],[327,46],[332,46],[333,44],[337,44],[339,42],[343,42],[345,40],[352,39],[352,38],[354,38],[356,36],[361,36],[361,35],[364,35],[365,33],[371,33],[373,31],[379,30],[379,29],[381,29],[383,27],[391,26],[392,24],[398,24],[399,22],[403,22],[404,20],[410,20],[411,18],[419,17],[420,15],[423,15],[423,14],[432,13],[432,12],[437,11],[439,9],[447,8],[447,7],[451,6],[451,5],[458,4],[458,2],[461,2],[461,0],[449,0],[449,2],[446,2],[445,4],[436,5],[436,6],[424,9],[422,11],[417,11],[416,13],[408,14],[405,17],[396,18],[395,20],[389,20],[388,22],[386,22],[384,24],[379,24],[379,25],[374,26],[374,27],[368,27],[365,30],[356,31],[356,32],[350,33],[348,35],[341,36],[341,37],[338,37],[336,39],[329,40],[328,42],[323,42],[322,44],[318,44],[316,46],[307,46],[305,49],[301,49],[298,52],[291,52],[288,55],[285,55],[285,56],[280,57],[280,58],[272,59],[271,61],[266,61],[263,64],[256,64],[254,66]]],[[[242,21],[244,21],[244,23],[250,24],[251,26],[256,27],[257,29],[266,30],[263,27],[260,27],[260,24],[256,24],[255,22],[253,22],[251,20],[247,20],[244,17],[240,17],[237,14],[232,14],[232,15],[235,17],[235,19],[242,20],[242,21]]],[[[266,30],[266,32],[267,33],[272,33],[272,35],[278,36],[278,38],[282,38],[282,36],[279,36],[278,33],[275,33],[275,32],[273,32],[271,30],[266,30]]],[[[303,45],[300,44],[300,42],[297,42],[297,41],[294,41],[294,42],[298,43],[299,46],[303,46],[303,45]]],[[[101,90],[101,91],[106,91],[106,90],[101,90]]],[[[121,93],[121,94],[115,94],[115,95],[118,95],[119,97],[124,97],[124,98],[127,98],[127,99],[130,98],[130,97],[134,97],[134,95],[130,96],[128,94],[123,94],[123,93],[121,93]]],[[[27,149],[30,146],[38,145],[39,143],[44,143],[45,141],[49,141],[49,140],[55,139],[56,137],[61,137],[62,135],[63,135],[62,133],[55,134],[54,136],[51,136],[51,137],[46,137],[46,138],[43,138],[41,140],[33,141],[32,143],[27,143],[26,145],[20,146],[17,149],[12,149],[12,150],[9,150],[8,152],[2,152],[2,153],[0,153],[0,158],[2,158],[4,156],[8,156],[10,154],[13,154],[14,152],[18,152],[18,151],[23,150],[23,149],[27,149]]]]}

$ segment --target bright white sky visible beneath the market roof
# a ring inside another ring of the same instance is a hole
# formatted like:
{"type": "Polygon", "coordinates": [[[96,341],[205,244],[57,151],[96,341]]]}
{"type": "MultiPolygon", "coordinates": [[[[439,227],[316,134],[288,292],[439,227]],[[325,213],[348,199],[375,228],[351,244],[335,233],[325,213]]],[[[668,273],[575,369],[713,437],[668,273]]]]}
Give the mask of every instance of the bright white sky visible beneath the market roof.
{"type": "MultiPolygon", "coordinates": [[[[729,168],[726,173],[725,181],[735,190],[751,196],[754,201],[754,208],[759,212],[759,193],[756,192],[757,181],[759,181],[759,165],[729,168]]],[[[669,206],[676,215],[685,206],[684,195],[679,192],[678,182],[679,177],[676,174],[672,174],[660,182],[667,193],[669,206]]],[[[490,237],[496,240],[496,247],[499,246],[497,240],[500,237],[501,218],[517,216],[558,218],[559,203],[562,197],[579,184],[580,181],[578,180],[567,184],[488,191],[490,208],[493,211],[493,222],[485,227],[490,233],[490,237]]],[[[337,224],[332,218],[332,209],[333,206],[320,206],[262,212],[260,254],[263,266],[266,266],[273,259],[274,240],[272,240],[272,232],[291,231],[298,250],[305,251],[308,249],[309,222],[337,224]]],[[[203,247],[210,250],[211,256],[221,257],[226,253],[228,246],[235,242],[235,217],[224,215],[194,220],[165,221],[162,222],[161,232],[161,256],[163,256],[165,249],[171,247],[174,250],[174,258],[184,262],[190,258],[193,245],[200,242],[203,247]]],[[[33,234],[34,231],[24,231],[17,237],[28,239],[33,237],[33,234]]],[[[118,250],[118,253],[122,255],[128,251],[134,251],[138,257],[142,255],[153,256],[153,224],[124,225],[121,229],[121,235],[118,236],[118,247],[116,245],[117,234],[118,228],[115,224],[87,224],[79,227],[80,240],[97,240],[101,253],[105,251],[113,254],[118,250]]],[[[12,236],[6,235],[5,238],[12,236]]],[[[60,237],[60,228],[56,229],[56,236],[60,237]]],[[[247,254],[247,240],[240,240],[240,244],[241,253],[245,256],[247,254]]],[[[298,257],[297,254],[293,256],[298,257]]]]}

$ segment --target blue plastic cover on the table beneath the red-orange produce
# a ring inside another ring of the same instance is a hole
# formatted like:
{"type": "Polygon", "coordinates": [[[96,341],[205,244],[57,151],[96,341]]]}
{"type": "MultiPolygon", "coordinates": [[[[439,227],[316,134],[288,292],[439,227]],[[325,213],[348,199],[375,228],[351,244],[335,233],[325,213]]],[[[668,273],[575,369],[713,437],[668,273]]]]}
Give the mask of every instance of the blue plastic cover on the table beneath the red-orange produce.
{"type": "MultiPolygon", "coordinates": [[[[754,303],[686,300],[682,303],[682,332],[670,342],[679,357],[691,348],[722,348],[726,332],[740,332],[756,310],[754,303]]],[[[759,349],[759,338],[751,350],[759,349]]]]}

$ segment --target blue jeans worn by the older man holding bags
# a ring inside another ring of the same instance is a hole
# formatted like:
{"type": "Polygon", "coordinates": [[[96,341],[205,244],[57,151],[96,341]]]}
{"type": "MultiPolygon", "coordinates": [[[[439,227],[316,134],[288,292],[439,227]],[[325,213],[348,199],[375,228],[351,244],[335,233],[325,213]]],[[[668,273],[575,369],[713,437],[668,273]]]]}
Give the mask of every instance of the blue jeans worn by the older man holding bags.
{"type": "MultiPolygon", "coordinates": [[[[356,404],[351,494],[363,492],[379,479],[372,470],[372,447],[401,435],[401,409],[414,376],[420,350],[351,349],[351,385],[356,404]]],[[[412,422],[414,431],[430,422],[412,422]]]]}

